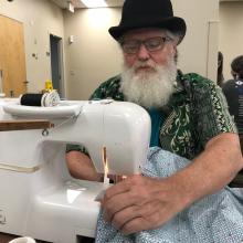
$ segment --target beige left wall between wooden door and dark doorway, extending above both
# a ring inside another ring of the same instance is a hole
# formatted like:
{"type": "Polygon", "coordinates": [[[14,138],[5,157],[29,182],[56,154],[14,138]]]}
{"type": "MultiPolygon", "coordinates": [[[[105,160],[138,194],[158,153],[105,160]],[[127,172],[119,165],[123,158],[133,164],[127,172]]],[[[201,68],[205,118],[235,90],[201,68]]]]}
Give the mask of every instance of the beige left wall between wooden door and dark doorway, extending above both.
{"type": "Polygon", "coordinates": [[[24,25],[27,80],[29,92],[44,88],[51,78],[50,33],[63,38],[62,10],[47,0],[1,1],[0,14],[19,20],[24,25]],[[35,53],[38,59],[33,57],[35,53]]]}

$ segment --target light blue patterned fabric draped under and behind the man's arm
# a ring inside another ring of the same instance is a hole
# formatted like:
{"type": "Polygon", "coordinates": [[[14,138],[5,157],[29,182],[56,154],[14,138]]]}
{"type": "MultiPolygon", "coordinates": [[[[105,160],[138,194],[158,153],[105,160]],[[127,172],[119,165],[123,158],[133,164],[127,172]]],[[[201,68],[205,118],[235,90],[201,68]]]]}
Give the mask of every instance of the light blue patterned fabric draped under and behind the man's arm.
{"type": "MultiPolygon", "coordinates": [[[[148,177],[169,177],[190,161],[158,147],[150,149],[142,171],[148,177]]],[[[243,242],[243,189],[222,189],[194,202],[156,230],[129,236],[116,231],[99,213],[96,243],[240,243],[243,242]]]]}

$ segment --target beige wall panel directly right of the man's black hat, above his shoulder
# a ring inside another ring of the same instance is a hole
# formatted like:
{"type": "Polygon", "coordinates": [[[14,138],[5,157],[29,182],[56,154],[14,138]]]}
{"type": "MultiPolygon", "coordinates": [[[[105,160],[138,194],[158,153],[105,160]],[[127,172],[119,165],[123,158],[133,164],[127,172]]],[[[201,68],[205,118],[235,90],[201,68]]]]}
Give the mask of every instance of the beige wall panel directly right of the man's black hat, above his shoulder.
{"type": "Polygon", "coordinates": [[[188,24],[184,41],[179,46],[179,66],[184,73],[196,72],[213,81],[216,77],[219,45],[218,0],[172,0],[175,12],[188,24]]]}

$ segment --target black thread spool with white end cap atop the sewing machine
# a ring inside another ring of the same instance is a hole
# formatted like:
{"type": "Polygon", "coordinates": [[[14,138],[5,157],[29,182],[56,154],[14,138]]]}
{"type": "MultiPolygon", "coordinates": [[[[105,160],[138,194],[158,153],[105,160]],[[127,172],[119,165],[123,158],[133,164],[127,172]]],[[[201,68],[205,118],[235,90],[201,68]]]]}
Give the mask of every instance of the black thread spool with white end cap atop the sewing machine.
{"type": "Polygon", "coordinates": [[[44,94],[27,93],[20,96],[19,103],[24,106],[56,106],[60,102],[60,96],[56,91],[47,92],[44,94]]]}

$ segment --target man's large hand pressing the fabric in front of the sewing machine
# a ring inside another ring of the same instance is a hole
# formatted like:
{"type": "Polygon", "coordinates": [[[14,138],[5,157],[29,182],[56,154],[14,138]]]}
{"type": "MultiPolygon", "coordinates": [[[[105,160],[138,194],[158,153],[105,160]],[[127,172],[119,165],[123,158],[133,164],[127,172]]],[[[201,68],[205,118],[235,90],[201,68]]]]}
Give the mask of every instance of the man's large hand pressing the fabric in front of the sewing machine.
{"type": "Polygon", "coordinates": [[[104,218],[124,234],[155,229],[186,207],[182,193],[168,179],[128,177],[107,189],[102,202],[104,218]]]}

